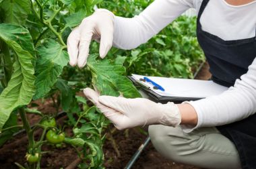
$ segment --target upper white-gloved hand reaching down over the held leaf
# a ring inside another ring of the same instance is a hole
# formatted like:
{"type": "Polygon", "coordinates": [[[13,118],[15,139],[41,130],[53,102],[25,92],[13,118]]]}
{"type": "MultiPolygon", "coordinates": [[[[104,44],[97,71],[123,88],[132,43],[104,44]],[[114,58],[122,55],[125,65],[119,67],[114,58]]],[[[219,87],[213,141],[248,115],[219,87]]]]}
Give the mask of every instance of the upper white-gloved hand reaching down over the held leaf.
{"type": "Polygon", "coordinates": [[[104,58],[113,44],[114,14],[98,9],[75,27],[67,38],[69,64],[79,68],[86,65],[91,40],[100,40],[100,57],[104,58]]]}

